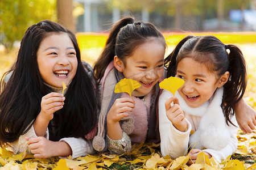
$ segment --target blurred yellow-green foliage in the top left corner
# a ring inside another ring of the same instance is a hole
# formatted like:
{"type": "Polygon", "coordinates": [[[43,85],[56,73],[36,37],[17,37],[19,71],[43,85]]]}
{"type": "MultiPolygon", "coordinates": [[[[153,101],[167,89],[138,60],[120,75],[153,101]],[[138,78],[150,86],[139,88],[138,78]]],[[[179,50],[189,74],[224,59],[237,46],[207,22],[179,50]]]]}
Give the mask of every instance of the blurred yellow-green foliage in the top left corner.
{"type": "Polygon", "coordinates": [[[49,19],[56,21],[56,0],[1,0],[0,44],[7,51],[21,40],[30,25],[49,19]]]}

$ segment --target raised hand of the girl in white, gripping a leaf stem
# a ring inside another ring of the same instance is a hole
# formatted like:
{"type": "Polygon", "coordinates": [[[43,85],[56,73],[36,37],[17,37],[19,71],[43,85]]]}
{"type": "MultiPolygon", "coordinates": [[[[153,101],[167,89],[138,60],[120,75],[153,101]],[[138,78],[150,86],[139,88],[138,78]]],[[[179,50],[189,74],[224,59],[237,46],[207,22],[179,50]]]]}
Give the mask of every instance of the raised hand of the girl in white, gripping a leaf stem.
{"type": "Polygon", "coordinates": [[[171,97],[166,101],[165,105],[166,116],[168,119],[172,122],[177,130],[184,132],[187,128],[187,121],[185,121],[184,112],[179,105],[179,100],[177,97],[171,97]],[[174,101],[176,101],[176,104],[171,107],[171,103],[174,101]]]}

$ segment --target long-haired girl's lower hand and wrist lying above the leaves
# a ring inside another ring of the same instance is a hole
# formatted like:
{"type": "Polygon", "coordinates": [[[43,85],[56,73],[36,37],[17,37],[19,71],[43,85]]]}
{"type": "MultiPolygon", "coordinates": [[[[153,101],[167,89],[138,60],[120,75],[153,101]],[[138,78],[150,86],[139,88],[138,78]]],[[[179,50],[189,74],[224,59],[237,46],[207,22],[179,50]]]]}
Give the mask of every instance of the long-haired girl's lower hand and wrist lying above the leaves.
{"type": "Polygon", "coordinates": [[[53,142],[44,137],[26,137],[26,140],[35,158],[51,158],[72,154],[71,148],[65,142],[53,142]]]}

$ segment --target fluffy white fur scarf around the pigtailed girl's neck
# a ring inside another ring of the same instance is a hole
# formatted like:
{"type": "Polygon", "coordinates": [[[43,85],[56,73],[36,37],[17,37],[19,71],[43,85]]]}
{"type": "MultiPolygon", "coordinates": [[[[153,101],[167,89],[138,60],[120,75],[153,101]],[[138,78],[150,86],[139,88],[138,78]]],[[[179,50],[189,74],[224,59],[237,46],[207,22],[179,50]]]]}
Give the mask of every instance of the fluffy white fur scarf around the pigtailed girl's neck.
{"type": "Polygon", "coordinates": [[[192,116],[202,117],[199,128],[189,138],[191,148],[193,145],[201,150],[204,148],[221,150],[226,147],[230,142],[230,133],[226,128],[227,125],[221,108],[223,87],[218,88],[207,103],[197,108],[188,107],[178,92],[176,95],[181,108],[184,108],[184,112],[192,116]]]}

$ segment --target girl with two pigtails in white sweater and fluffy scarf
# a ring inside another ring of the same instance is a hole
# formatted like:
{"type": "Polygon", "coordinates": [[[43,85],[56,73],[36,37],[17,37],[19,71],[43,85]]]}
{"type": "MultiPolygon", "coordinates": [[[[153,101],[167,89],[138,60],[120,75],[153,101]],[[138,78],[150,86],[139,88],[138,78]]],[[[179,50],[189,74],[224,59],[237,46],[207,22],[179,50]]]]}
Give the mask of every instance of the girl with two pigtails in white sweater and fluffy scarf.
{"type": "Polygon", "coordinates": [[[221,162],[237,148],[235,105],[247,84],[241,50],[214,36],[187,36],[165,64],[167,77],[176,76],[184,84],[175,96],[163,90],[159,97],[162,155],[175,159],[190,146],[189,164],[200,152],[221,162]]]}

